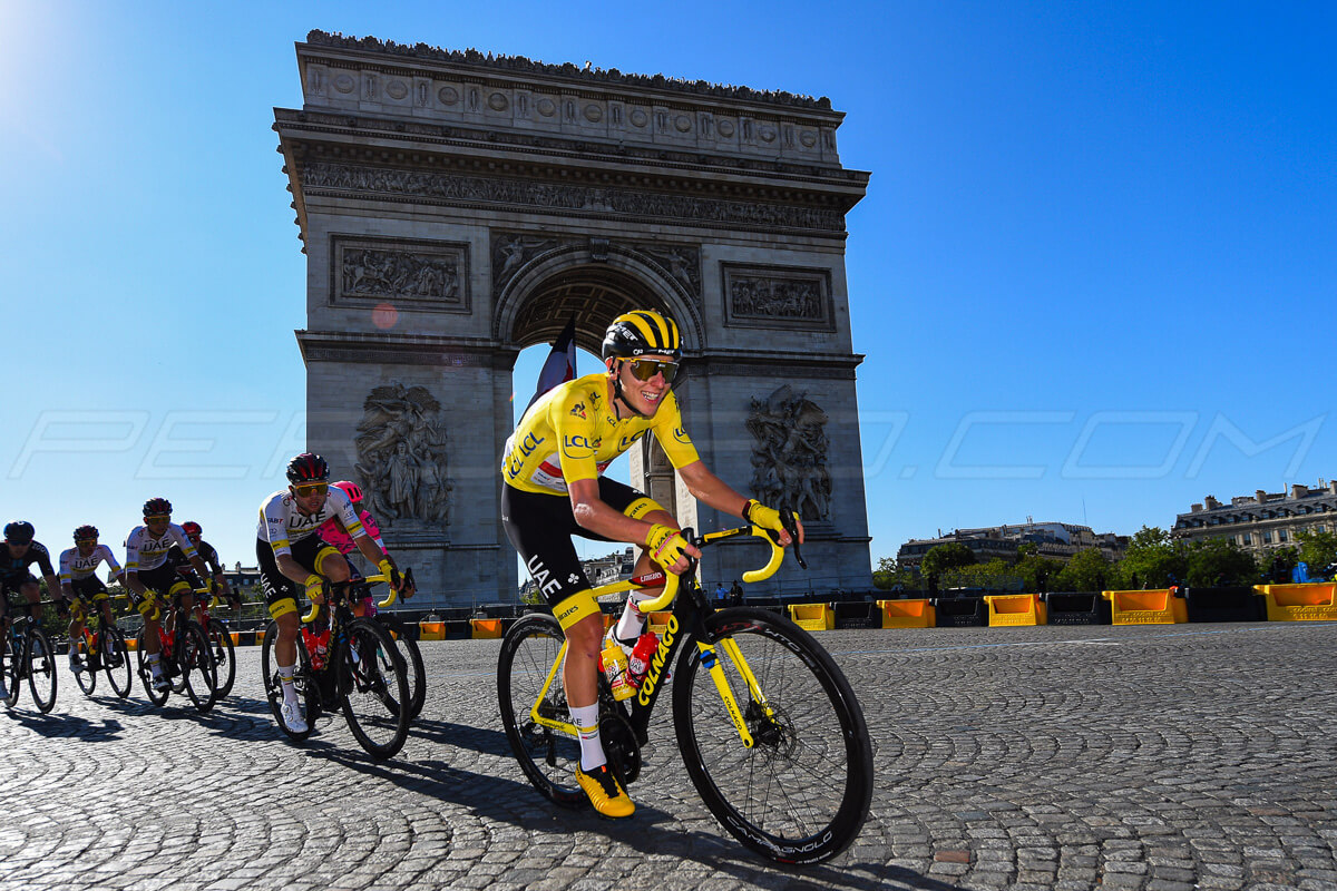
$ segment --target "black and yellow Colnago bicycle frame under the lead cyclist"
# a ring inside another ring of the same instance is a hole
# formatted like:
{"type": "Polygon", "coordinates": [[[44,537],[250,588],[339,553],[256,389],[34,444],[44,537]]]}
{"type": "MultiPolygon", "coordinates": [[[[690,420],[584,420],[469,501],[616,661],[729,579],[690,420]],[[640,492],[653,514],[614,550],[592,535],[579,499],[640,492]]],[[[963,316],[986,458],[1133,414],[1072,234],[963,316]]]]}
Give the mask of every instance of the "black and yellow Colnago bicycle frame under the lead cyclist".
{"type": "MultiPolygon", "coordinates": [[[[726,529],[722,532],[713,532],[705,536],[694,537],[690,529],[683,530],[683,537],[687,538],[694,546],[702,548],[713,541],[721,538],[729,538],[733,536],[751,534],[757,537],[765,537],[771,545],[771,560],[770,562],[758,570],[743,573],[746,581],[761,581],[771,576],[775,569],[779,568],[779,561],[783,557],[783,549],[777,546],[771,540],[770,533],[759,529],[758,526],[739,526],[738,529],[726,529]]],[[[797,554],[796,554],[797,556],[797,554]]],[[[802,564],[802,558],[800,558],[802,564]]],[[[654,652],[650,659],[650,667],[646,671],[644,680],[640,681],[640,688],[636,695],[626,703],[630,703],[631,715],[628,723],[631,724],[632,732],[636,735],[636,740],[644,745],[650,739],[650,716],[654,712],[655,703],[659,700],[659,695],[664,689],[662,683],[666,673],[670,671],[674,659],[677,659],[682,643],[685,639],[690,637],[697,645],[701,653],[701,661],[710,672],[711,680],[715,683],[715,689],[719,691],[719,697],[725,703],[725,709],[729,712],[729,717],[734,723],[734,728],[738,731],[738,736],[742,740],[745,748],[751,748],[754,740],[751,733],[747,731],[747,724],[743,720],[742,709],[738,707],[738,700],[734,697],[733,689],[729,685],[729,679],[725,676],[725,669],[719,664],[719,659],[715,655],[715,645],[709,640],[709,633],[706,631],[706,616],[709,616],[713,609],[706,601],[706,596],[697,584],[695,576],[693,574],[697,568],[697,561],[691,560],[687,570],[682,576],[674,576],[671,573],[664,573],[666,584],[664,593],[647,601],[642,605],[642,612],[658,612],[663,606],[673,604],[673,612],[668,617],[668,627],[664,629],[663,639],[659,641],[659,648],[654,652]]],[[[591,594],[600,597],[603,594],[618,593],[622,590],[631,590],[635,588],[643,588],[635,581],[620,581],[611,585],[603,585],[591,590],[591,594]]],[[[771,713],[770,705],[766,701],[765,693],[762,693],[761,684],[757,683],[755,675],[753,675],[751,668],[747,665],[747,660],[743,657],[742,651],[738,649],[738,644],[731,639],[725,640],[722,644],[725,655],[729,656],[730,661],[738,668],[739,675],[747,684],[747,691],[757,705],[765,709],[766,715],[771,713]]],[[[567,733],[570,736],[576,736],[576,727],[570,721],[560,721],[552,717],[544,717],[539,713],[539,705],[547,699],[548,689],[552,687],[554,680],[558,677],[558,672],[562,671],[563,663],[567,655],[567,641],[562,643],[558,649],[558,657],[552,663],[552,669],[548,672],[548,677],[544,681],[541,689],[539,691],[539,697],[529,707],[529,719],[541,727],[551,728],[554,731],[567,733]]],[[[603,685],[600,685],[600,696],[603,696],[603,685]]]]}

